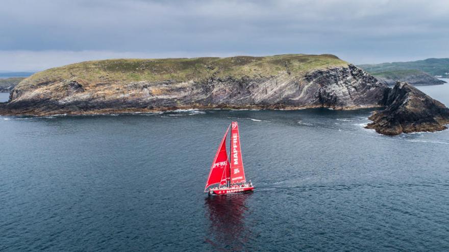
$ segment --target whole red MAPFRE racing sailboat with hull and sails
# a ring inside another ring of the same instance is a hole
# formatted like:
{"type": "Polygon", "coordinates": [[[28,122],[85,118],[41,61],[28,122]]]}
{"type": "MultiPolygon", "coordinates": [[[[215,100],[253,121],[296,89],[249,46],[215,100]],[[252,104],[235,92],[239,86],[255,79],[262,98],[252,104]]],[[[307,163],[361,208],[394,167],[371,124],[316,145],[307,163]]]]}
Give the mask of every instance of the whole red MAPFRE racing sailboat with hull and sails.
{"type": "Polygon", "coordinates": [[[253,183],[251,180],[246,182],[245,171],[243,170],[238,123],[232,122],[218,146],[204,192],[209,192],[210,195],[222,195],[251,190],[254,190],[253,183]],[[231,159],[228,159],[226,151],[226,138],[229,128],[231,128],[231,150],[229,155],[231,159]]]}

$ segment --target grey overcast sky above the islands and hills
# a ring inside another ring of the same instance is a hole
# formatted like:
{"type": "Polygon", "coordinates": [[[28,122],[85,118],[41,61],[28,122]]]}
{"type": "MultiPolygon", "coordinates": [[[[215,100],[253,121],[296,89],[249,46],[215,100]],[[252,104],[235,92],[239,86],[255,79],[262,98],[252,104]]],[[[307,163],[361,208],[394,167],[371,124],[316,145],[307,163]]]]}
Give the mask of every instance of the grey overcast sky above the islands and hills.
{"type": "Polygon", "coordinates": [[[449,57],[448,0],[2,0],[0,70],[86,60],[332,53],[449,57]]]}

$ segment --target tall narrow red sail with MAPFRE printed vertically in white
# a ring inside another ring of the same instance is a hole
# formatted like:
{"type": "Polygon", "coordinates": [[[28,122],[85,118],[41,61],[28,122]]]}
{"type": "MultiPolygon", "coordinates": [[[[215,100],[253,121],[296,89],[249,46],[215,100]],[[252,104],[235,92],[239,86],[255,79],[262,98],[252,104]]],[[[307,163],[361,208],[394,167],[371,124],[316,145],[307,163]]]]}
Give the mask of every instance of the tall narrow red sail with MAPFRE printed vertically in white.
{"type": "Polygon", "coordinates": [[[237,122],[231,123],[231,184],[246,182],[237,122]]]}

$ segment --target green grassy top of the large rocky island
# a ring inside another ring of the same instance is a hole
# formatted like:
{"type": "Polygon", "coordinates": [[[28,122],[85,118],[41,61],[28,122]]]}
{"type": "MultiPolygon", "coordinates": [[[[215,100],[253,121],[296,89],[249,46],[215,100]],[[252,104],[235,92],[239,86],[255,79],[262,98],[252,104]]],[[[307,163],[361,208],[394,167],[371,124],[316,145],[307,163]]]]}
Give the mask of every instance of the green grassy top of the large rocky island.
{"type": "Polygon", "coordinates": [[[271,76],[301,74],[314,69],[347,66],[334,55],[284,54],[268,57],[192,59],[116,59],[82,62],[38,72],[24,82],[78,79],[90,83],[198,80],[211,76],[271,76]]]}

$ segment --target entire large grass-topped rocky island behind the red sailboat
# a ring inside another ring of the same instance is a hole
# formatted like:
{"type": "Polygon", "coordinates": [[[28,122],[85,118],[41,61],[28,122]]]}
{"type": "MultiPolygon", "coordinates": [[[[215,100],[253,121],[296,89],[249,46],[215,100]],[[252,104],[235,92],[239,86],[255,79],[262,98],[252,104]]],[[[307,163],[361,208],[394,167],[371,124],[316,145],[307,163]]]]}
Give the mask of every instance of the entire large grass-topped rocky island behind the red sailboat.
{"type": "Polygon", "coordinates": [[[33,75],[12,91],[0,114],[355,109],[379,106],[386,89],[376,78],[333,55],[103,61],[33,75]]]}

